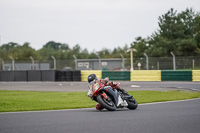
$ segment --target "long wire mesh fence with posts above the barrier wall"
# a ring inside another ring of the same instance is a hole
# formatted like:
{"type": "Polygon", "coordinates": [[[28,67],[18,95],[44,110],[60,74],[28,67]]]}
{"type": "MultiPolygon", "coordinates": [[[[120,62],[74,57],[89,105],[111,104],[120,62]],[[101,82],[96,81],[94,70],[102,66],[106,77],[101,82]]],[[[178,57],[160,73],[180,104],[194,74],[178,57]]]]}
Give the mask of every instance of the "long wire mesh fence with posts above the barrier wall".
{"type": "MultiPolygon", "coordinates": [[[[70,60],[46,60],[46,61],[2,61],[0,70],[118,70],[129,71],[131,69],[130,58],[112,59],[70,59],[70,60]]],[[[200,69],[200,57],[176,57],[176,69],[200,69]]],[[[173,70],[172,57],[149,57],[148,64],[145,57],[133,58],[134,70],[173,70]]]]}

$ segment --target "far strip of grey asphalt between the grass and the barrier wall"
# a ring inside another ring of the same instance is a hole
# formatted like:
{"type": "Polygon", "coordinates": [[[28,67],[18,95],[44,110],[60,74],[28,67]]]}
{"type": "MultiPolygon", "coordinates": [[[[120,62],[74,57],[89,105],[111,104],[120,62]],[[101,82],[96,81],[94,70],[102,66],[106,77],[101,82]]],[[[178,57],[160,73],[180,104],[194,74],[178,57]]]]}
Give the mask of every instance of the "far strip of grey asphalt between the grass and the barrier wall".
{"type": "MultiPolygon", "coordinates": [[[[187,90],[200,91],[200,82],[133,82],[119,81],[127,91],[135,90],[187,90]]],[[[88,91],[87,82],[0,82],[0,90],[23,91],[88,91]]]]}

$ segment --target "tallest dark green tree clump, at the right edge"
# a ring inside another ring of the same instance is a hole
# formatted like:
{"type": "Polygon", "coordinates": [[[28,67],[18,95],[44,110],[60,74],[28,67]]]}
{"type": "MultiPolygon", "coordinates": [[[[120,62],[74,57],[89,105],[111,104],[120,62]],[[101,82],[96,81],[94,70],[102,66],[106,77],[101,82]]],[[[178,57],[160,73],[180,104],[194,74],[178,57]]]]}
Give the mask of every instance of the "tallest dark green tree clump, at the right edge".
{"type": "Polygon", "coordinates": [[[159,17],[159,30],[149,38],[151,56],[195,56],[199,53],[199,13],[186,9],[177,13],[170,9],[159,17]]]}

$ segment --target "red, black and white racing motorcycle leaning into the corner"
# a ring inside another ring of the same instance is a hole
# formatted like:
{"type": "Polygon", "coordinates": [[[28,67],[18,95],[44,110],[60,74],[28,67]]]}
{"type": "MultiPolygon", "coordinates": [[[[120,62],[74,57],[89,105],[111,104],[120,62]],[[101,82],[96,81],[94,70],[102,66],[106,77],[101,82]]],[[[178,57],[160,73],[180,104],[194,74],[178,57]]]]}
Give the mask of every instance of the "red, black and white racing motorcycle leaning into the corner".
{"type": "Polygon", "coordinates": [[[115,111],[117,108],[124,107],[134,110],[138,107],[137,101],[133,96],[117,89],[119,86],[120,83],[117,83],[115,86],[105,86],[100,82],[96,82],[93,85],[93,100],[102,106],[99,110],[106,108],[109,111],[115,111]]]}

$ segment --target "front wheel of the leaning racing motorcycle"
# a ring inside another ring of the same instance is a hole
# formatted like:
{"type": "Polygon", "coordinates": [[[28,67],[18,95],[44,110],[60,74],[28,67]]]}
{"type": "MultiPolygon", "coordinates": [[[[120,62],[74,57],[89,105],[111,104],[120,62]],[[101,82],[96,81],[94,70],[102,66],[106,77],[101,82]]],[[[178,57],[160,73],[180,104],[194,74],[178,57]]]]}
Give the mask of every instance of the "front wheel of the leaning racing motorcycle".
{"type": "Polygon", "coordinates": [[[114,102],[109,97],[105,99],[102,95],[98,95],[97,101],[109,111],[115,111],[117,109],[114,102]]]}

